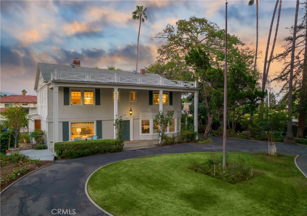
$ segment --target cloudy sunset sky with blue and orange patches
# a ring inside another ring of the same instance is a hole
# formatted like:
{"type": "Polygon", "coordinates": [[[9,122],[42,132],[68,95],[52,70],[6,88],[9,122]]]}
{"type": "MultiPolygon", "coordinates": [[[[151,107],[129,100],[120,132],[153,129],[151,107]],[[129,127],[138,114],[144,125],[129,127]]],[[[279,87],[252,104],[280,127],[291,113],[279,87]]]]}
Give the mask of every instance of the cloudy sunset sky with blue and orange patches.
{"type": "MultiPolygon", "coordinates": [[[[139,22],[131,16],[136,5],[147,7],[148,17],[141,26],[138,69],[155,62],[160,44],[150,39],[167,24],[196,16],[225,28],[225,1],[2,0],[0,4],[0,90],[18,94],[26,89],[28,94],[36,95],[37,62],[70,65],[76,57],[85,67],[114,65],[135,70],[139,22]]],[[[256,6],[247,4],[228,1],[228,33],[255,48],[256,6]]],[[[274,5],[275,1],[259,2],[260,58],[265,54],[274,5]]],[[[275,53],[282,51],[282,40],[289,34],[285,28],[294,24],[295,5],[295,1],[282,1],[275,53]]],[[[301,9],[299,18],[302,16],[301,9]]],[[[258,67],[263,68],[263,59],[258,60],[258,67]]],[[[281,63],[271,64],[270,75],[281,67],[281,63]]],[[[278,86],[272,87],[277,91],[278,86]]]]}

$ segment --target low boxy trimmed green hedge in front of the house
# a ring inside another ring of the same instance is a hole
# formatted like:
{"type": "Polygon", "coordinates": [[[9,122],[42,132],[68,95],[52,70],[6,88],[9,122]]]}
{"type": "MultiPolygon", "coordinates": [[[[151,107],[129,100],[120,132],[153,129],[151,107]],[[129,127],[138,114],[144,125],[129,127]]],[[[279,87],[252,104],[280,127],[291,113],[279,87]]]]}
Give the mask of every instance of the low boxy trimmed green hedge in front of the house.
{"type": "Polygon", "coordinates": [[[120,152],[124,141],[119,139],[81,140],[56,142],[54,151],[59,158],[76,158],[91,154],[120,152]]]}

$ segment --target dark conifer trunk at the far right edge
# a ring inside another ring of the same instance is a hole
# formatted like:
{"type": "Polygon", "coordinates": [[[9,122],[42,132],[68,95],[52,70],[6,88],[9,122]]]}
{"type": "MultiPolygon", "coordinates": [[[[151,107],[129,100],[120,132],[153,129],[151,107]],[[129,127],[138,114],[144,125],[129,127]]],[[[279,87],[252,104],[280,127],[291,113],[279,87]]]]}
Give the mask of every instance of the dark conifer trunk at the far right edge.
{"type": "MultiPolygon", "coordinates": [[[[307,14],[305,14],[307,16],[307,14]]],[[[307,17],[305,18],[307,19],[307,17]]],[[[307,20],[306,20],[307,29],[307,20]]],[[[306,126],[307,116],[307,31],[305,30],[305,55],[303,65],[303,76],[301,86],[301,100],[299,103],[298,125],[297,125],[297,137],[304,138],[304,128],[306,126]]]]}

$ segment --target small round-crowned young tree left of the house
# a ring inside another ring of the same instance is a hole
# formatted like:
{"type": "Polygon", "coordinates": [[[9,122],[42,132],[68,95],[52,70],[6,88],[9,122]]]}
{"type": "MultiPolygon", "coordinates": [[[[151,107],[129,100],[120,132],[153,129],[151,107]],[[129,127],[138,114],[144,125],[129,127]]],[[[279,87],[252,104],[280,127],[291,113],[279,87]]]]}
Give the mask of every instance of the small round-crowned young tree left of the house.
{"type": "Polygon", "coordinates": [[[17,147],[20,128],[25,127],[28,123],[27,113],[23,110],[21,106],[10,107],[2,113],[3,118],[6,120],[6,125],[12,128],[12,133],[15,139],[15,148],[17,147]]]}

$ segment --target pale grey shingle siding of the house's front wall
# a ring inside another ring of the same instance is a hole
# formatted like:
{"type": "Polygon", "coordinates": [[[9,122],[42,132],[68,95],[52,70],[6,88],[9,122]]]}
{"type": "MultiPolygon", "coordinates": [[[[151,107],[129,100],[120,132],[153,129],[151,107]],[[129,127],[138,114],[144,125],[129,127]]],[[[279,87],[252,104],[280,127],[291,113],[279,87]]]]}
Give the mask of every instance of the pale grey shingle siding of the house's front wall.
{"type": "MultiPolygon", "coordinates": [[[[74,88],[80,89],[80,88],[74,88]]],[[[131,89],[133,90],[133,89],[131,89]]],[[[95,90],[94,90],[95,91],[95,90]]],[[[150,107],[153,109],[159,108],[159,105],[149,105],[149,90],[137,90],[136,102],[130,102],[130,90],[119,89],[120,99],[118,101],[118,116],[124,114],[129,115],[130,104],[133,111],[133,130],[134,140],[139,139],[156,139],[157,135],[140,135],[140,112],[146,112],[150,107]]],[[[113,89],[101,88],[100,89],[100,101],[101,105],[64,105],[64,87],[59,87],[59,141],[62,141],[62,122],[84,122],[84,121],[97,121],[102,120],[102,138],[113,139],[114,138],[114,101],[113,89]]],[[[53,131],[50,128],[53,124],[53,90],[48,89],[48,107],[49,107],[49,137],[52,142],[53,131]]],[[[173,105],[164,105],[164,110],[169,109],[177,110],[177,114],[174,118],[181,117],[181,94],[179,92],[173,92],[173,105]]],[[[151,118],[154,118],[152,115],[151,118]]],[[[142,118],[144,119],[144,118],[142,118]]],[[[70,124],[69,124],[70,127],[70,124]]],[[[53,143],[52,143],[53,147],[53,143]]]]}

